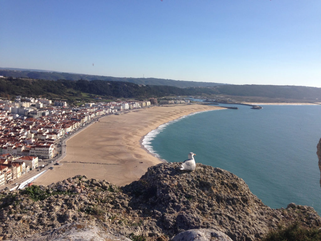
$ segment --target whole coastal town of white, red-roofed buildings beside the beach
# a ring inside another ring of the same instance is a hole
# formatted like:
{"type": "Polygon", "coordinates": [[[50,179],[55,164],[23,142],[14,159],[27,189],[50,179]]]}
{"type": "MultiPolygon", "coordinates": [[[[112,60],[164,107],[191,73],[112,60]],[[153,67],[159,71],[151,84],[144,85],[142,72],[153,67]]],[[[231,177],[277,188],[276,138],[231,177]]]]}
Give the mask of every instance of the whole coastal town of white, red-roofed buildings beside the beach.
{"type": "MultiPolygon", "coordinates": [[[[52,101],[16,96],[14,101],[0,100],[0,189],[17,189],[24,175],[65,156],[62,141],[102,116],[157,104],[188,103],[189,100],[97,102],[68,106],[52,101]],[[6,184],[14,183],[13,187],[6,184]]],[[[58,162],[55,165],[59,165],[58,162]]],[[[53,169],[53,167],[49,167],[53,169]]]]}

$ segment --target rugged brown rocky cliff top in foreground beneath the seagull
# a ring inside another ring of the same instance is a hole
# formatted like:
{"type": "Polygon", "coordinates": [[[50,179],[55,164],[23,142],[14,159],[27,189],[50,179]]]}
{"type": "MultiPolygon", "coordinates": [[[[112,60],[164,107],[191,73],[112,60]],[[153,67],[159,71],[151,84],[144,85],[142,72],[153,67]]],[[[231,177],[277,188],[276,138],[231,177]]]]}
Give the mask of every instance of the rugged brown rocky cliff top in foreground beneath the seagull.
{"type": "Polygon", "coordinates": [[[321,227],[313,208],[291,203],[286,209],[271,209],[228,171],[202,164],[192,172],[179,167],[179,163],[150,167],[138,181],[123,187],[76,176],[48,186],[2,192],[0,236],[161,241],[207,235],[208,239],[197,240],[250,241],[293,221],[321,227]]]}

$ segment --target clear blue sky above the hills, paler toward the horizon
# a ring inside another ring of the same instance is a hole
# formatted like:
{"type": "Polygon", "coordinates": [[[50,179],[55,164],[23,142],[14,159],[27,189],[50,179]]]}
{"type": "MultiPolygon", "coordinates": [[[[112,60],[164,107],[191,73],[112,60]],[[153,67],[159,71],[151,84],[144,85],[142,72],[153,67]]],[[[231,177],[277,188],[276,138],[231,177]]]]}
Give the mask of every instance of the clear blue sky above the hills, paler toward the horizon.
{"type": "Polygon", "coordinates": [[[0,67],[321,87],[320,0],[0,5],[0,67]]]}

